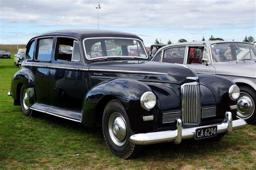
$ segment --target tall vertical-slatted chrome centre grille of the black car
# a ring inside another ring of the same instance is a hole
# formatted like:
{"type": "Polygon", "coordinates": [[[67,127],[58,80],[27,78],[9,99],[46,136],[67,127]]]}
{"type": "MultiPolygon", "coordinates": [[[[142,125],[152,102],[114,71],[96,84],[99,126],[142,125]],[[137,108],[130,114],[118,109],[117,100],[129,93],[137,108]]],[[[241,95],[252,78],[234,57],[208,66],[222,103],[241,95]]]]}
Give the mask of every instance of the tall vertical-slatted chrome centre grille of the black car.
{"type": "Polygon", "coordinates": [[[198,82],[181,85],[181,103],[183,124],[199,124],[201,120],[201,97],[198,82]]]}

